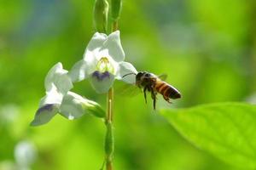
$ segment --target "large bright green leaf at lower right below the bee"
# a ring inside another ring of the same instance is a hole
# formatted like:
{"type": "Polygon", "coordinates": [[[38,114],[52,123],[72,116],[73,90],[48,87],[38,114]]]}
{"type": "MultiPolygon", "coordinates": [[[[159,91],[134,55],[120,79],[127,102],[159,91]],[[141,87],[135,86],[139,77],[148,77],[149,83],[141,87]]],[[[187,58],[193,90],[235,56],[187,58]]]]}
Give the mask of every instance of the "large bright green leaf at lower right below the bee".
{"type": "Polygon", "coordinates": [[[241,168],[256,168],[256,105],[219,103],[160,111],[202,150],[241,168]]]}

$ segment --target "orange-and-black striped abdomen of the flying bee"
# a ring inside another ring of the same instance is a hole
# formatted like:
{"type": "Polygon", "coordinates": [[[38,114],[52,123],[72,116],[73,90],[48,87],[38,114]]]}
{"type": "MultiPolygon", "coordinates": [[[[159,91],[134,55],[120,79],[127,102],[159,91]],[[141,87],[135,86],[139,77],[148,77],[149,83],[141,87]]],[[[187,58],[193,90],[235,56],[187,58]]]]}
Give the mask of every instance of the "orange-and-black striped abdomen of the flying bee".
{"type": "Polygon", "coordinates": [[[176,88],[173,88],[170,84],[161,81],[160,79],[156,81],[154,88],[158,93],[162,94],[165,99],[181,98],[181,94],[177,91],[176,88]]]}

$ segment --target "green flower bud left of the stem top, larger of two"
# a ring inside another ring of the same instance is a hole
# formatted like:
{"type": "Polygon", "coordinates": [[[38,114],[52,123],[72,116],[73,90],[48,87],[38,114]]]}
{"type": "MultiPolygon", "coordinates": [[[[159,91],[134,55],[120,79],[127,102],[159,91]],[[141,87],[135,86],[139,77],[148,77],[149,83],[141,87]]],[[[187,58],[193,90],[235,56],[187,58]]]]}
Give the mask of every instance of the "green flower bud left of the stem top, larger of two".
{"type": "Polygon", "coordinates": [[[94,26],[96,31],[107,32],[108,28],[108,1],[96,0],[94,5],[94,26]]]}

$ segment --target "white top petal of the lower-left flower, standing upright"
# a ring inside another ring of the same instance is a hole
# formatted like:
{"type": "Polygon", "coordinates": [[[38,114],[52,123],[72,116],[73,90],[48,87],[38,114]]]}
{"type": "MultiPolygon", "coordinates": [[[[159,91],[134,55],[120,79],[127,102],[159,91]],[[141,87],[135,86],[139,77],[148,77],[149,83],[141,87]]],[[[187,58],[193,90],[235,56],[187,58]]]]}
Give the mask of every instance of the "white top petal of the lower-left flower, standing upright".
{"type": "Polygon", "coordinates": [[[68,90],[73,88],[71,78],[67,76],[67,72],[62,68],[61,63],[54,65],[45,77],[44,86],[46,91],[55,87],[61,94],[66,94],[68,90]]]}

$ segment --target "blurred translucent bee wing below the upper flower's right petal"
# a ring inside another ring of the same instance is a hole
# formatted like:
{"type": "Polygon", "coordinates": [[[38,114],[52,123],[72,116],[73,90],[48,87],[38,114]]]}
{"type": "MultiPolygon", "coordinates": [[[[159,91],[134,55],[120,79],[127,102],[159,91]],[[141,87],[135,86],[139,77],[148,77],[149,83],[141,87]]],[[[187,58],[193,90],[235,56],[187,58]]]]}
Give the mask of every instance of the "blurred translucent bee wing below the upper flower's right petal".
{"type": "Polygon", "coordinates": [[[115,93],[124,97],[134,97],[142,93],[142,89],[135,84],[123,84],[115,88],[115,93]]]}

